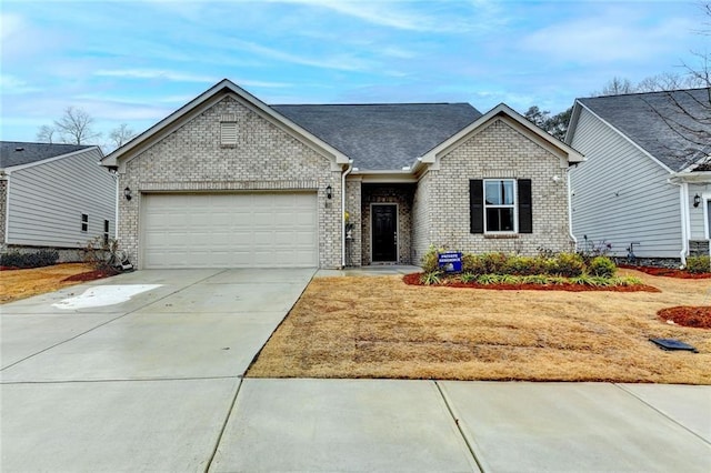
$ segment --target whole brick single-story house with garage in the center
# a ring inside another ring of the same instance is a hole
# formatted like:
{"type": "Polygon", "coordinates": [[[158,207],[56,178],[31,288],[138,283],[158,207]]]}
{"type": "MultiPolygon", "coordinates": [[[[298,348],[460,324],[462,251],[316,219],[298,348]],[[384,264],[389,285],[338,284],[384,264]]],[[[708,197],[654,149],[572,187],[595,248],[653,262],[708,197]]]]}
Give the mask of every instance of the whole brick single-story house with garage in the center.
{"type": "Polygon", "coordinates": [[[504,104],[270,107],[223,80],[103,164],[138,268],[340,268],[570,250],[581,160],[504,104]]]}

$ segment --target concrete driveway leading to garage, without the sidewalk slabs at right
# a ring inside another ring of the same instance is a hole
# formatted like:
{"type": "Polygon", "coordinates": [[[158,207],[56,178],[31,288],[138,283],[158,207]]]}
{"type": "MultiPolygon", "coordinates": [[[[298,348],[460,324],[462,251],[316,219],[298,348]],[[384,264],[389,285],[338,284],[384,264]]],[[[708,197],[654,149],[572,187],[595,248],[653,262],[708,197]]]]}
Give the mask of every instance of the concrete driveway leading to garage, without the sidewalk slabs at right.
{"type": "Polygon", "coordinates": [[[314,271],[137,271],[2,305],[2,471],[204,470],[314,271]]]}

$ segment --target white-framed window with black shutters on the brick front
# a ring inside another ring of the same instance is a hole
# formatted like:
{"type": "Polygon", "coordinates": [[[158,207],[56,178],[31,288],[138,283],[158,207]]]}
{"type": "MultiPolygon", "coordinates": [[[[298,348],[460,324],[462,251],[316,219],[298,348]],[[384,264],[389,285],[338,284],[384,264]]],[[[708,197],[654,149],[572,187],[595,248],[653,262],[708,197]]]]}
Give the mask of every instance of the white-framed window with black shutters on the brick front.
{"type": "Polygon", "coordinates": [[[530,179],[472,179],[469,205],[471,233],[533,232],[530,179]]]}

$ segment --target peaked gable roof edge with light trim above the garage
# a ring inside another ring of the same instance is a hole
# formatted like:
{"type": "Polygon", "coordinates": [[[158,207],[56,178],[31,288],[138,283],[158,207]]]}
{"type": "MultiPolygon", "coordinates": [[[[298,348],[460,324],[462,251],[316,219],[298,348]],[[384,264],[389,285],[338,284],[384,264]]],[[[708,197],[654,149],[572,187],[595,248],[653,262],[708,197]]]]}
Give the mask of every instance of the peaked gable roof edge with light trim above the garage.
{"type": "Polygon", "coordinates": [[[322,154],[333,158],[337,163],[348,163],[348,158],[343,155],[341,151],[334,149],[329,143],[313,135],[311,132],[304,130],[297,123],[287,119],[284,115],[276,112],[264,102],[244,89],[238,87],[231,80],[222,79],[220,82],[212,85],[210,89],[202,92],[200,95],[196,97],[193,100],[186,103],[183,107],[156,123],[153,127],[133,138],[123,147],[111,152],[102,159],[102,164],[106,167],[117,167],[120,158],[130,157],[137,152],[141,152],[147,147],[150,147],[156,140],[160,140],[172,132],[176,128],[182,124],[184,120],[190,120],[207,108],[212,107],[226,94],[232,94],[232,97],[237,98],[242,103],[249,104],[252,110],[260,113],[263,118],[267,118],[282,130],[293,135],[299,135],[302,141],[307,142],[312,148],[318,149],[322,154]]]}

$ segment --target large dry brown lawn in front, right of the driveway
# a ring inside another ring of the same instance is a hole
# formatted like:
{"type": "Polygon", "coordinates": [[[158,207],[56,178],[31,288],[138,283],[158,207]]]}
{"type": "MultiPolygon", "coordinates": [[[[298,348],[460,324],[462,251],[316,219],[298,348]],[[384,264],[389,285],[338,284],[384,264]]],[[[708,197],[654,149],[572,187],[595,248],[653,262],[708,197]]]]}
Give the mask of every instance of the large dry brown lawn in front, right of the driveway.
{"type": "Polygon", "coordinates": [[[252,378],[609,381],[711,384],[711,330],[657,311],[711,304],[711,280],[622,270],[662,292],[412,286],[401,276],[314,279],[252,378]],[[673,338],[699,353],[665,352],[673,338]]]}

